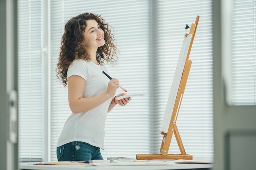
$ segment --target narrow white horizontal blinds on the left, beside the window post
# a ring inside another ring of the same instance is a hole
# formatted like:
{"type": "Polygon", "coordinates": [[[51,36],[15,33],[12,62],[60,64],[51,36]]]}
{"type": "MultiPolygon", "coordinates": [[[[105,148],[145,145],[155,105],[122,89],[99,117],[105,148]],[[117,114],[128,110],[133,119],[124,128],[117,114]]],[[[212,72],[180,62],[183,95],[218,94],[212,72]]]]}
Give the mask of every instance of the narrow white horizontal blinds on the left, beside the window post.
{"type": "Polygon", "coordinates": [[[42,161],[41,2],[18,0],[18,134],[20,161],[42,161]]]}

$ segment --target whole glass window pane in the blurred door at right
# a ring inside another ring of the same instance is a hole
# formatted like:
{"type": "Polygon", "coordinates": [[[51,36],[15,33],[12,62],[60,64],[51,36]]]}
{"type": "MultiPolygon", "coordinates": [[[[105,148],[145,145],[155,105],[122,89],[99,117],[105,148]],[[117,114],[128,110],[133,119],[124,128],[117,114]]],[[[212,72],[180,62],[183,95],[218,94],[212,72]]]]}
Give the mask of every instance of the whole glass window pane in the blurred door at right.
{"type": "Polygon", "coordinates": [[[229,105],[256,105],[255,1],[223,2],[223,70],[229,105]],[[229,45],[231,44],[231,45],[229,45]]]}

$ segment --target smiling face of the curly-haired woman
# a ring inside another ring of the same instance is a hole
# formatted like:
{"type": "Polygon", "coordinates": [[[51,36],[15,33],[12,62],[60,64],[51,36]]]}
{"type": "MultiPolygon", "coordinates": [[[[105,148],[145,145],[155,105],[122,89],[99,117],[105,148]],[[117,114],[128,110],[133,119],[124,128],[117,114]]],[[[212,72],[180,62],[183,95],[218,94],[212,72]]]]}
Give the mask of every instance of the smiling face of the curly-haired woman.
{"type": "Polygon", "coordinates": [[[104,32],[100,28],[99,23],[95,20],[87,20],[84,31],[84,44],[86,50],[97,50],[105,44],[104,32]]]}

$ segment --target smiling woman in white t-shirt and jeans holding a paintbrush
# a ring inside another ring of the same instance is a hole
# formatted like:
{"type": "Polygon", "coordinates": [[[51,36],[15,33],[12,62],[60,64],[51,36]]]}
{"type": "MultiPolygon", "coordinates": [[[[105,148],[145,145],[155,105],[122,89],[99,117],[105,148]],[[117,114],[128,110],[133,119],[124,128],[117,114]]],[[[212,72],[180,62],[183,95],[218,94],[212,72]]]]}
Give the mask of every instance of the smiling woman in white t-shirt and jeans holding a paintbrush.
{"type": "MultiPolygon", "coordinates": [[[[73,114],[65,122],[57,143],[58,161],[103,159],[106,115],[129,98],[115,99],[116,78],[102,73],[105,62],[117,63],[117,48],[109,25],[101,15],[82,13],[65,25],[57,64],[57,77],[68,85],[73,114]]],[[[118,96],[126,95],[121,93],[118,96]]]]}

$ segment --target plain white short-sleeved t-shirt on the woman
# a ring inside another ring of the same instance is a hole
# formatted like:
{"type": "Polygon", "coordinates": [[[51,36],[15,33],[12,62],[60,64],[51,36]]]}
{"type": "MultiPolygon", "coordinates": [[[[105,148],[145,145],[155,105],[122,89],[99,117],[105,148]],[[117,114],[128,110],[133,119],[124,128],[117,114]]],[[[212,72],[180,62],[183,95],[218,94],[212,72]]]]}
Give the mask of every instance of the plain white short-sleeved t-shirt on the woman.
{"type": "MultiPolygon", "coordinates": [[[[83,97],[93,97],[105,93],[110,79],[102,73],[106,67],[84,60],[74,60],[67,70],[67,77],[79,75],[85,79],[83,97]]],[[[103,104],[83,113],[68,117],[57,147],[72,141],[82,141],[104,149],[105,121],[112,97],[103,104]]]]}

